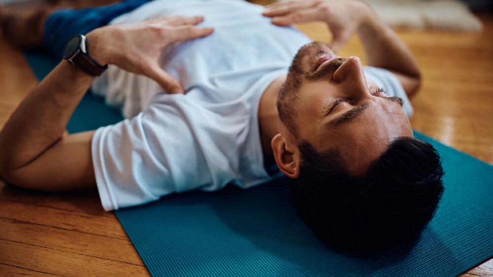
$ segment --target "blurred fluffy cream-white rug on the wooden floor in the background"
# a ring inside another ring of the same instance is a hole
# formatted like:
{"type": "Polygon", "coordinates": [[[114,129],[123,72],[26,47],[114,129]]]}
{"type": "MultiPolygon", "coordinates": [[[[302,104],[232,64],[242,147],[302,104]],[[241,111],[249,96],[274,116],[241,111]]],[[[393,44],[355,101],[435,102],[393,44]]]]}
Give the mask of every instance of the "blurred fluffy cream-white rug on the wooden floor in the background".
{"type": "Polygon", "coordinates": [[[481,21],[458,0],[364,0],[392,27],[479,31],[481,21]]]}

